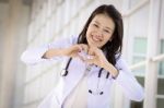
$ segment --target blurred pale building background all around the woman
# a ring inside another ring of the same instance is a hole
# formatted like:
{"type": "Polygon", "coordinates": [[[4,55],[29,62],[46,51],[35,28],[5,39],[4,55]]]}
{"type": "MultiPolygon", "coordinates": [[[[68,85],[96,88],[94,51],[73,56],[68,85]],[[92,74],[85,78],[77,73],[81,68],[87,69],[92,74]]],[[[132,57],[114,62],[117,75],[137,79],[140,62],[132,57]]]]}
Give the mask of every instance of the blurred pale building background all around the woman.
{"type": "Polygon", "coordinates": [[[61,62],[21,62],[21,53],[59,37],[79,35],[99,4],[114,4],[124,17],[122,56],[144,86],[142,103],[113,87],[113,108],[164,106],[163,0],[0,0],[0,108],[36,108],[56,86],[61,62]]]}

